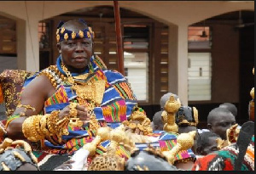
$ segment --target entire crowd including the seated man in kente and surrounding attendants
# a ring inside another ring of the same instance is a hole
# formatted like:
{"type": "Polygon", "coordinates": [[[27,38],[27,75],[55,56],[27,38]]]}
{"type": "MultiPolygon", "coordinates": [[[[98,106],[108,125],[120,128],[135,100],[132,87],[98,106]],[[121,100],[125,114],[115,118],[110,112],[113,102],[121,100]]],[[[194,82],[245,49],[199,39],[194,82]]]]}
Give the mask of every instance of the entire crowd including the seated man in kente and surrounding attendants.
{"type": "Polygon", "coordinates": [[[254,122],[237,125],[234,104],[198,129],[198,110],[166,93],[150,121],[125,76],[93,53],[94,37],[84,20],[58,25],[56,64],[26,79],[0,124],[1,171],[254,171],[254,122]]]}

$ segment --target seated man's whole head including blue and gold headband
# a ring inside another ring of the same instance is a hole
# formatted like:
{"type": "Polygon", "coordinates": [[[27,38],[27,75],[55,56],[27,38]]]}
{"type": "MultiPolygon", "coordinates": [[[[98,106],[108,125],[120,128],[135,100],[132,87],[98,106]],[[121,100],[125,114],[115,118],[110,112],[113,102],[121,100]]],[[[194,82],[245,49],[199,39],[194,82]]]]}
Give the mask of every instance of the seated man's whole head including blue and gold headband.
{"type": "Polygon", "coordinates": [[[68,20],[60,23],[56,35],[62,63],[72,72],[84,71],[93,54],[91,28],[83,20],[68,20]]]}

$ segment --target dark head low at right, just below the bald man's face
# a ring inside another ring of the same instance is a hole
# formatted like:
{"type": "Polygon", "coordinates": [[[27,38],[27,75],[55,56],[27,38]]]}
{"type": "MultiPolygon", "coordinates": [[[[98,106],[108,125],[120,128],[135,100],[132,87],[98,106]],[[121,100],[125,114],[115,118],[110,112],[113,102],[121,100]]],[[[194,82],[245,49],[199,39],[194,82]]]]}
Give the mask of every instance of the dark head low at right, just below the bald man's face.
{"type": "Polygon", "coordinates": [[[202,132],[197,139],[196,154],[207,155],[218,150],[218,134],[214,132],[202,132]]]}

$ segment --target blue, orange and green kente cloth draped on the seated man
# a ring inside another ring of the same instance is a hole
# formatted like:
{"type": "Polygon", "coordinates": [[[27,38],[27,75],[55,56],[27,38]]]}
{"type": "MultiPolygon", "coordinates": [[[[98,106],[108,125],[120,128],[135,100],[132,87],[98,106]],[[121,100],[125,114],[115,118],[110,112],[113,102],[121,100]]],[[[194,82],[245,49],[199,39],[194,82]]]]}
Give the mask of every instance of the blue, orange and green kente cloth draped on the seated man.
{"type": "MultiPolygon", "coordinates": [[[[56,92],[44,102],[44,114],[49,114],[53,110],[63,109],[70,102],[79,102],[76,91],[72,90],[72,84],[68,81],[61,80],[61,75],[67,76],[61,68],[61,56],[57,59],[55,67],[53,65],[39,71],[34,76],[25,81],[26,87],[32,79],[40,74],[47,74],[48,77],[55,79],[57,83],[56,92]],[[56,68],[57,71],[56,72],[56,68]]],[[[88,76],[79,81],[105,81],[105,90],[103,92],[102,102],[93,110],[96,115],[96,120],[100,126],[110,126],[115,128],[122,121],[127,120],[131,115],[131,110],[137,104],[137,98],[132,93],[131,86],[125,76],[118,71],[107,70],[103,65],[102,60],[97,56],[90,58],[88,68],[82,75],[88,76]]],[[[72,73],[72,76],[79,77],[81,74],[72,73]]],[[[90,99],[85,99],[85,103],[90,103],[90,99]]],[[[76,127],[67,126],[68,135],[62,136],[62,142],[58,143],[57,136],[51,136],[42,141],[42,148],[51,154],[73,154],[74,151],[89,143],[94,138],[94,132],[90,132],[88,126],[76,127]]]]}

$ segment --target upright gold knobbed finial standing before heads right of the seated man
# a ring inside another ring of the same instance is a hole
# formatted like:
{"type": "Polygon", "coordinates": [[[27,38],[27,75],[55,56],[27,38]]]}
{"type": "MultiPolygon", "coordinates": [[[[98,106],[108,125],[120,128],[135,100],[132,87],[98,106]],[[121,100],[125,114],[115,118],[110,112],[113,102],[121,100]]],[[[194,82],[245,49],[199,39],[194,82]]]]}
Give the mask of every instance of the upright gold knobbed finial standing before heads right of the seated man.
{"type": "Polygon", "coordinates": [[[177,102],[173,95],[166,101],[165,110],[162,112],[162,121],[166,121],[164,125],[164,131],[166,132],[178,132],[178,127],[175,122],[175,114],[181,107],[181,104],[177,102]]]}

